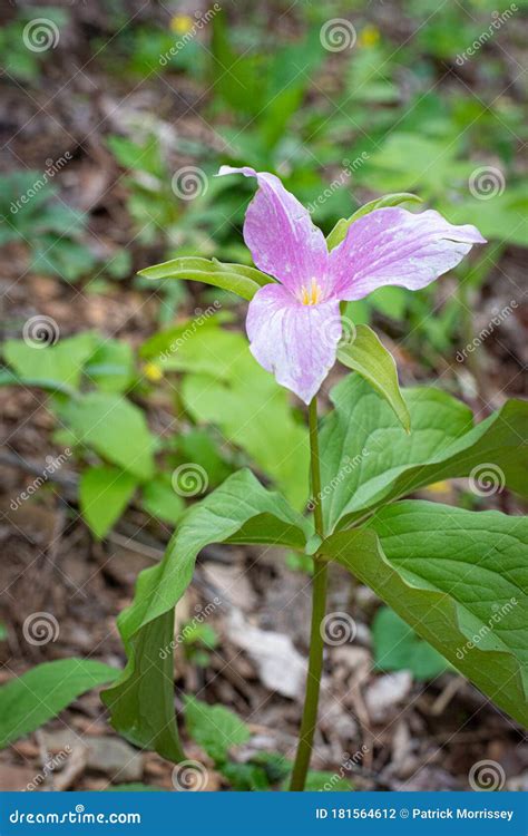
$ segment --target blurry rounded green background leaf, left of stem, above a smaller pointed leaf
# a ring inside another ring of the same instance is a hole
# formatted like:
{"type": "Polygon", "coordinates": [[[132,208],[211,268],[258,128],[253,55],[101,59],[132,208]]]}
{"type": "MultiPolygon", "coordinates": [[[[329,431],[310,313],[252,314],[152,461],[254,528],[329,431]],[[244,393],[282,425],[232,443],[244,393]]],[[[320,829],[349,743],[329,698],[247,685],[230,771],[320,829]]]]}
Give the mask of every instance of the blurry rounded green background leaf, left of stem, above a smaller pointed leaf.
{"type": "Polygon", "coordinates": [[[138,479],[153,476],[154,437],[141,410],[118,395],[88,392],[61,405],[59,415],[77,444],[96,450],[138,479]]]}

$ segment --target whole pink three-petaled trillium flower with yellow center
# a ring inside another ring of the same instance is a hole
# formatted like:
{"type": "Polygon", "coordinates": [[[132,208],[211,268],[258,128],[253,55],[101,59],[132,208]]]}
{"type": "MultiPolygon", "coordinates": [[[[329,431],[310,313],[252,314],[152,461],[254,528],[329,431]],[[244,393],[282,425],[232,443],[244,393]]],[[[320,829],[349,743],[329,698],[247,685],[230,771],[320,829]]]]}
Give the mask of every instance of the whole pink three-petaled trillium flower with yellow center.
{"type": "Polygon", "coordinates": [[[278,177],[248,166],[224,165],[218,175],[225,174],[257,179],[244,241],[258,270],[276,280],[250,302],[251,351],[305,404],[335,362],[341,301],[363,299],[388,284],[420,290],[454,268],[473,244],[486,243],[475,226],[453,226],[432,210],[413,214],[389,207],[354,221],[329,252],[309,211],[278,177]]]}

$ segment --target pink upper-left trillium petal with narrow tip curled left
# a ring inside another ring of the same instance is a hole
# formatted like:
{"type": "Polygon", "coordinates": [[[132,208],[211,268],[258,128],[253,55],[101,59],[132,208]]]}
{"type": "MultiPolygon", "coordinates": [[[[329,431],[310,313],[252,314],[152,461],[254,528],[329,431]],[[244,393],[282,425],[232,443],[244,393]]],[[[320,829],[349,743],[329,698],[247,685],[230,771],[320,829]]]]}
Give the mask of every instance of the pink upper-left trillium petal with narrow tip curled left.
{"type": "Polygon", "coordinates": [[[257,179],[258,191],[244,222],[244,241],[258,270],[275,276],[292,292],[312,279],[324,291],[329,253],[324,235],[312,223],[309,211],[274,174],[223,165],[218,175],[225,174],[257,179]]]}

